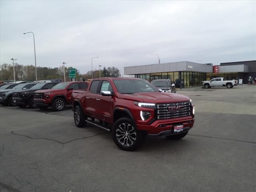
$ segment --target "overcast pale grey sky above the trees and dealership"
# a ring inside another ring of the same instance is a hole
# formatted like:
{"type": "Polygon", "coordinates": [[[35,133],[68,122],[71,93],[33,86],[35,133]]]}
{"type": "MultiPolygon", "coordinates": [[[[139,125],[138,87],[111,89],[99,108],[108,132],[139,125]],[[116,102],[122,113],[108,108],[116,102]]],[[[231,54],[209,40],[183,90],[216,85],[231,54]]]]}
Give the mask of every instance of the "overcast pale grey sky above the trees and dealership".
{"type": "Polygon", "coordinates": [[[256,60],[256,1],[2,1],[0,64],[59,67],[256,60]],[[200,60],[200,61],[199,61],[200,60]]]}

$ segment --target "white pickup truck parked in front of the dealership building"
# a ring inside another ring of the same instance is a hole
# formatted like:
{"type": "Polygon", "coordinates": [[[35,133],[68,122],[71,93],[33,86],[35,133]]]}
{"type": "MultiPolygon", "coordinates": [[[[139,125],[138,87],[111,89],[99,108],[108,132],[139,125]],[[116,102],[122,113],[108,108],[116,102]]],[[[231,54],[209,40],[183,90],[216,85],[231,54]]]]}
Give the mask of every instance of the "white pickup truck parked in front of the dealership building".
{"type": "Polygon", "coordinates": [[[213,78],[210,81],[203,81],[202,83],[202,86],[206,89],[213,86],[226,86],[227,88],[232,88],[234,85],[237,85],[236,80],[226,81],[224,77],[213,78]]]}

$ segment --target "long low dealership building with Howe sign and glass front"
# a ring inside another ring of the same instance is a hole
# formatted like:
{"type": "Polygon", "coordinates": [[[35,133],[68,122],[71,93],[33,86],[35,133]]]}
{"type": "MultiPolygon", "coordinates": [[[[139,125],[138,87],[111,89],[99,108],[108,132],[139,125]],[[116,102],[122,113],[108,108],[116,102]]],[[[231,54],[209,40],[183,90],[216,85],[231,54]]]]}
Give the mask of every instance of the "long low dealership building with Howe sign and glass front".
{"type": "Polygon", "coordinates": [[[170,79],[177,87],[201,86],[202,81],[216,77],[226,80],[239,80],[248,83],[248,77],[256,78],[256,60],[220,63],[220,65],[201,64],[189,61],[150,64],[124,67],[125,75],[142,78],[148,81],[170,79]]]}

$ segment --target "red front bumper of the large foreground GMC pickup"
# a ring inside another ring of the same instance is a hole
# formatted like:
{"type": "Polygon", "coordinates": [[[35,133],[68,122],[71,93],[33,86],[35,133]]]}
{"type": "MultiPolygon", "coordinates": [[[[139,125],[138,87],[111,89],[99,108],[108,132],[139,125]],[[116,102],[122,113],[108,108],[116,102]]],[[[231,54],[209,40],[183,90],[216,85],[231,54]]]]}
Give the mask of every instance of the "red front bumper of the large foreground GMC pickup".
{"type": "Polygon", "coordinates": [[[152,124],[137,124],[136,126],[138,130],[146,131],[150,136],[167,136],[187,132],[193,127],[194,121],[195,118],[187,116],[174,119],[156,120],[152,124]],[[174,132],[174,126],[176,125],[183,125],[183,131],[177,133],[174,132]]]}

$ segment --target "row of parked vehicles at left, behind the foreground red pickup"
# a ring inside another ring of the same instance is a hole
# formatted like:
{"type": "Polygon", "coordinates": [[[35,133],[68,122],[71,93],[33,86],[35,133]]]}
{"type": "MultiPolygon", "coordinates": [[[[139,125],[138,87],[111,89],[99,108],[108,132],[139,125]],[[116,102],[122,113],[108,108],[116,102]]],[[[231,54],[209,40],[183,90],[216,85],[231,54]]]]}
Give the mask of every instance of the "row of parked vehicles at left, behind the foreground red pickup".
{"type": "Polygon", "coordinates": [[[72,90],[87,89],[88,82],[48,82],[8,84],[0,90],[0,104],[29,108],[46,109],[50,106],[56,111],[71,104],[72,90]]]}

